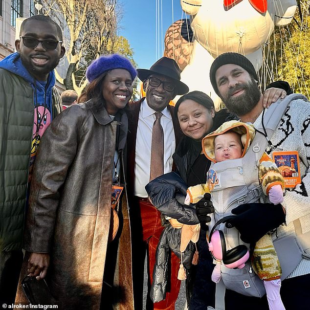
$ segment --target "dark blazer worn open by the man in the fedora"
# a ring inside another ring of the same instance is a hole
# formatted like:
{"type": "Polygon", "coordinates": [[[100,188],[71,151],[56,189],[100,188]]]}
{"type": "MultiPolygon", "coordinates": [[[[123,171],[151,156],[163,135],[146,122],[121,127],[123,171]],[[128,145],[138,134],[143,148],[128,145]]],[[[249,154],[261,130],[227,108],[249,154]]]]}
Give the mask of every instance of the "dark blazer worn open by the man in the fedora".
{"type": "MultiPolygon", "coordinates": [[[[137,128],[138,128],[138,119],[141,103],[145,97],[141,98],[136,102],[129,103],[129,112],[128,112],[128,135],[127,135],[127,147],[128,147],[128,196],[133,195],[134,189],[134,163],[135,163],[135,140],[137,136],[137,128]]],[[[175,117],[174,107],[169,105],[168,110],[170,111],[173,127],[175,131],[176,137],[176,149],[180,139],[183,136],[181,132],[179,123],[177,118],[175,117]]],[[[141,150],[142,151],[142,150],[141,150]]]]}

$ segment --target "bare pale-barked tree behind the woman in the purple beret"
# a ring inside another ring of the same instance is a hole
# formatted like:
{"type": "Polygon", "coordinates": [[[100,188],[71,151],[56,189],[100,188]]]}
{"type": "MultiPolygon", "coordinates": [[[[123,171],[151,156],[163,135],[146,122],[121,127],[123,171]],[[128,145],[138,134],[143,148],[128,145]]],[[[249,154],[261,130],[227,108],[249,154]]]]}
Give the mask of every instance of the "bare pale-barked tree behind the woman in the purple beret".
{"type": "Polygon", "coordinates": [[[119,52],[134,64],[133,51],[126,39],[122,42],[125,48],[115,47],[121,18],[117,0],[44,0],[44,12],[58,22],[64,32],[68,68],[65,78],[58,73],[56,77],[66,89],[80,94],[87,84],[87,66],[100,55],[119,52]]]}

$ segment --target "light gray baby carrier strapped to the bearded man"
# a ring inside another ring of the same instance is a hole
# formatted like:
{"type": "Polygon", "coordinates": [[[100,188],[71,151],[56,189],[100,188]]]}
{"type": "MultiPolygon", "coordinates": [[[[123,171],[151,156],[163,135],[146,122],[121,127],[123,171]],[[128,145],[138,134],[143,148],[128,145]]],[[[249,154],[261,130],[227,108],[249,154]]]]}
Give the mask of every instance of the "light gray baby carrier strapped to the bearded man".
{"type": "MultiPolygon", "coordinates": [[[[301,94],[291,94],[285,99],[273,103],[268,110],[265,111],[264,118],[262,119],[264,126],[261,122],[256,128],[257,133],[243,158],[211,164],[208,178],[212,178],[212,181],[217,178],[218,184],[214,186],[211,192],[215,213],[209,225],[210,227],[213,227],[214,221],[218,221],[224,216],[231,215],[231,210],[238,205],[257,202],[259,200],[260,196],[263,194],[258,178],[260,159],[266,150],[268,141],[271,139],[284,112],[287,110],[288,104],[296,99],[308,101],[307,98],[301,94]]],[[[296,227],[298,225],[294,223],[294,226],[297,234],[296,227]]],[[[224,224],[221,224],[217,229],[221,229],[224,232],[228,249],[238,244],[243,244],[236,228],[227,229],[224,224]]],[[[248,246],[248,244],[245,245],[248,246]]],[[[274,245],[276,246],[276,244],[274,245]]],[[[297,253],[297,255],[300,253],[301,252],[297,253]]],[[[282,266],[281,260],[280,263],[282,266]]],[[[216,288],[216,310],[225,309],[224,293],[225,287],[223,282],[220,281],[216,288]]],[[[207,309],[213,310],[210,306],[207,309]]]]}

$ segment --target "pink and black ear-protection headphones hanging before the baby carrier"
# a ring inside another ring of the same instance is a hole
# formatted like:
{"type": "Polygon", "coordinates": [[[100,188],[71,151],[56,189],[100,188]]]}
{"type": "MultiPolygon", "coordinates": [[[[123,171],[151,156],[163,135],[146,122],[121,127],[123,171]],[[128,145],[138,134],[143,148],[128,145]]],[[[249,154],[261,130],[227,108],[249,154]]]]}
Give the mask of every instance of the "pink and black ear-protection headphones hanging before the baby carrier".
{"type": "Polygon", "coordinates": [[[215,230],[219,224],[233,217],[233,215],[226,216],[215,223],[210,231],[208,246],[213,258],[221,260],[227,268],[243,268],[250,256],[247,247],[244,244],[240,244],[226,251],[224,233],[221,230],[215,230]]]}

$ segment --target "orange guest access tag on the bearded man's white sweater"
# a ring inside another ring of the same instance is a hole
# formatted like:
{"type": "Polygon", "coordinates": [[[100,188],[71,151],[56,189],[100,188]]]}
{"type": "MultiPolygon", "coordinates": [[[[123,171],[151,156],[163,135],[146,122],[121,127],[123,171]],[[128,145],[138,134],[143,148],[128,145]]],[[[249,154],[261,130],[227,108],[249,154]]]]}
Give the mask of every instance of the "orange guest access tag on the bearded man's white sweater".
{"type": "Polygon", "coordinates": [[[293,188],[301,183],[300,163],[297,151],[273,152],[272,160],[284,178],[286,188],[293,188]]]}

